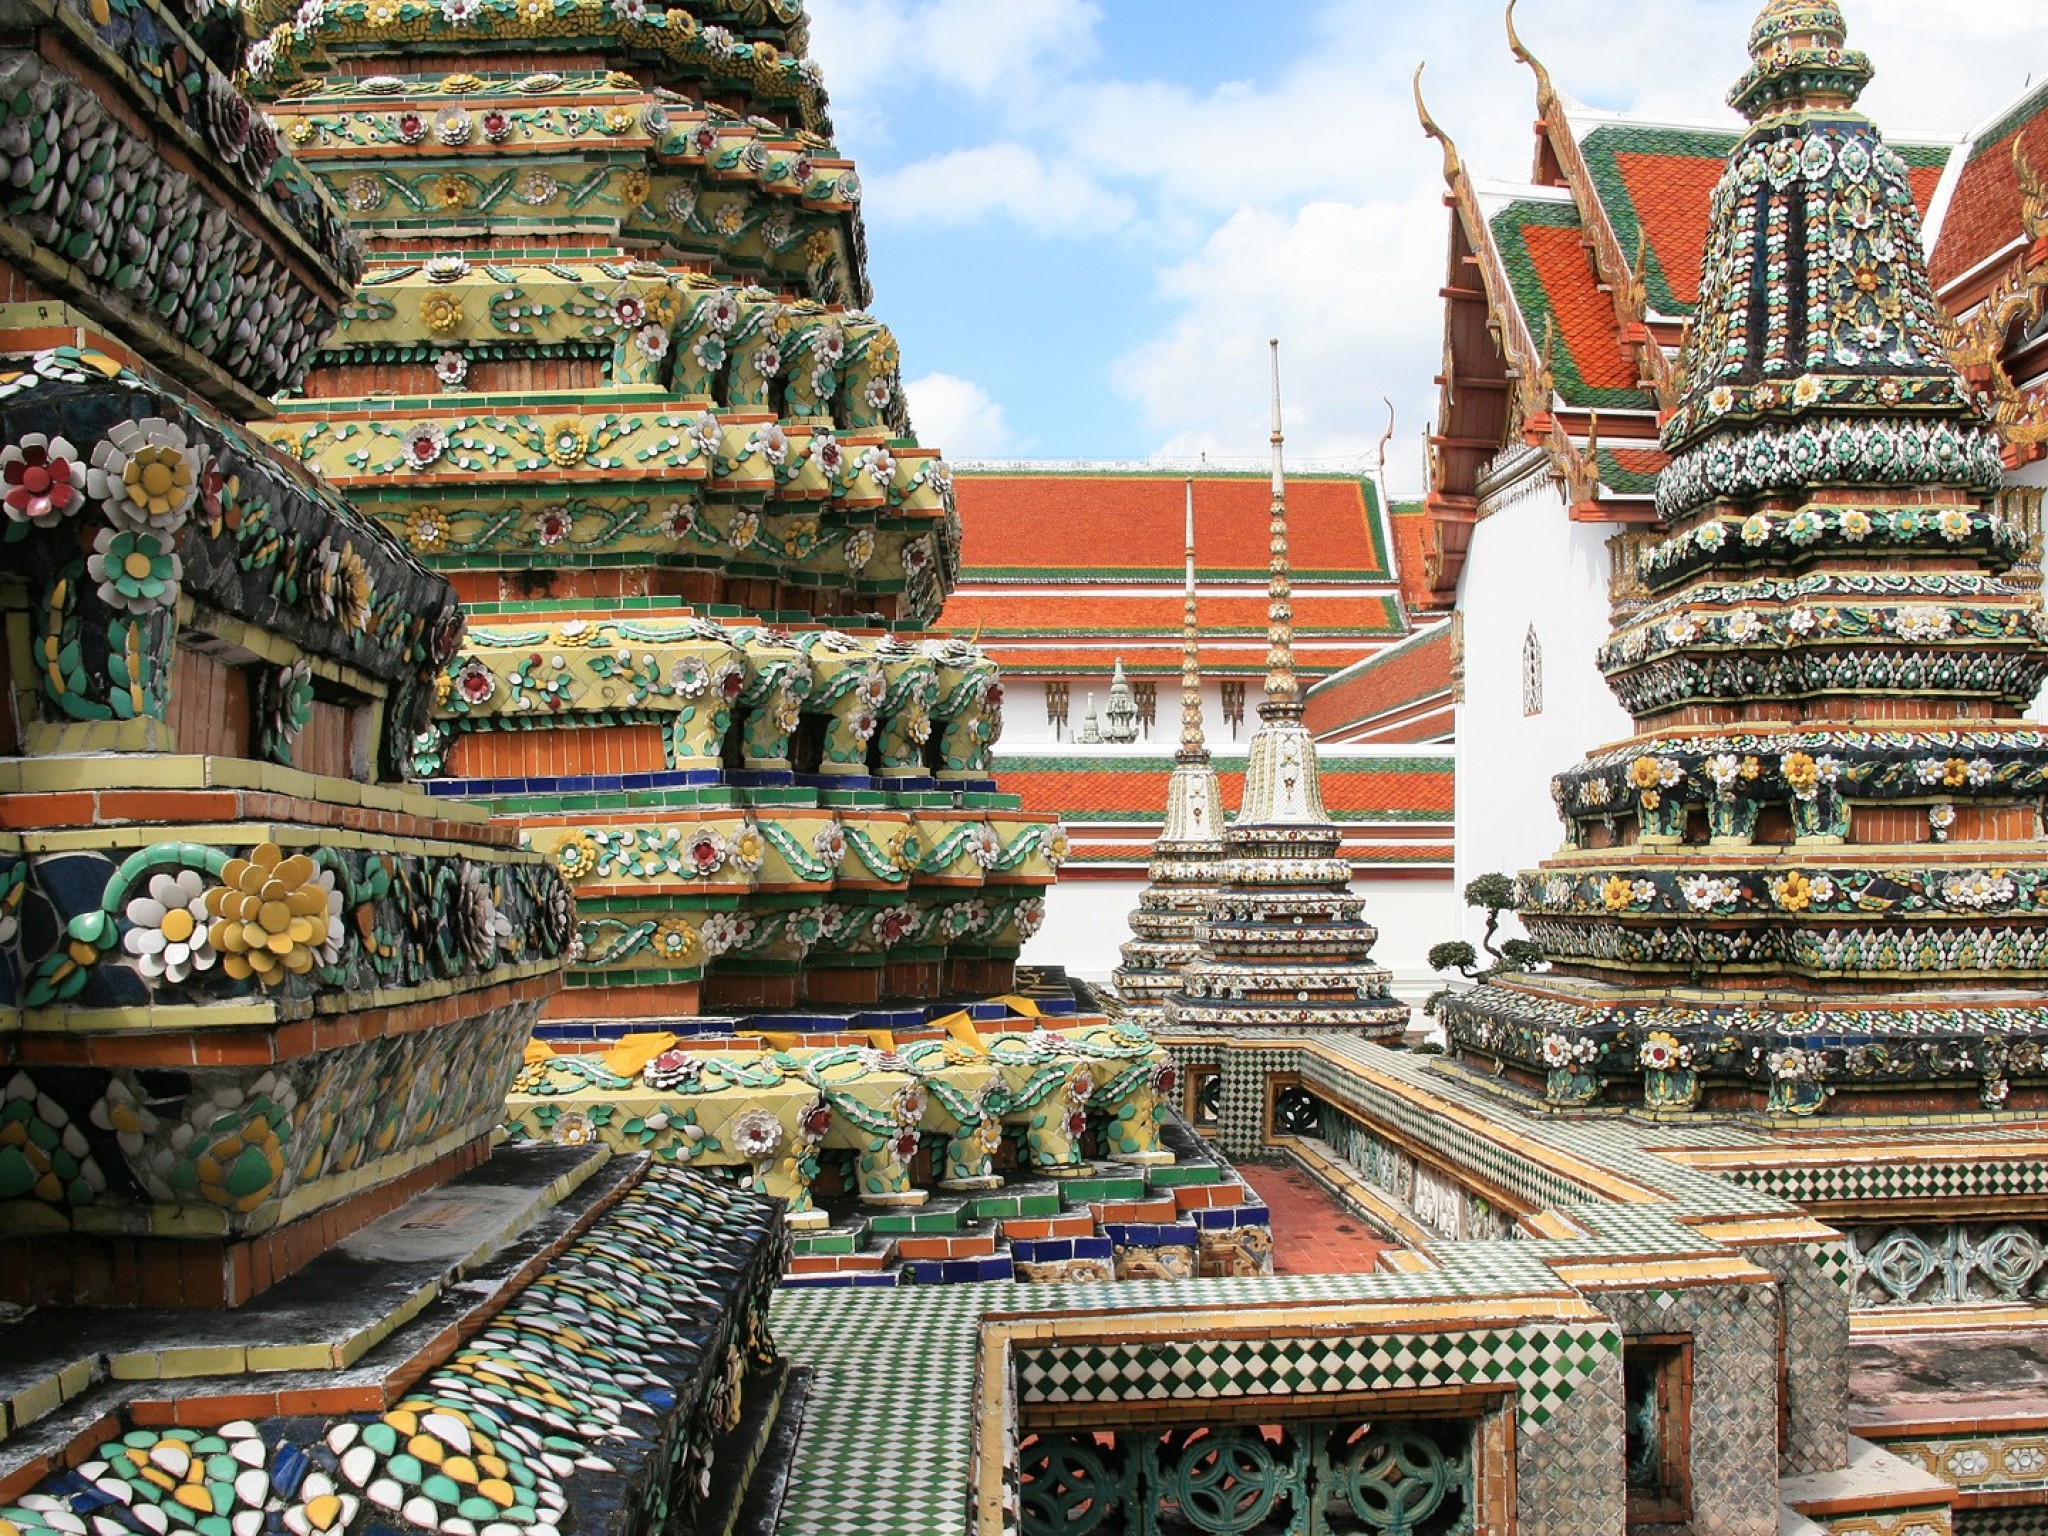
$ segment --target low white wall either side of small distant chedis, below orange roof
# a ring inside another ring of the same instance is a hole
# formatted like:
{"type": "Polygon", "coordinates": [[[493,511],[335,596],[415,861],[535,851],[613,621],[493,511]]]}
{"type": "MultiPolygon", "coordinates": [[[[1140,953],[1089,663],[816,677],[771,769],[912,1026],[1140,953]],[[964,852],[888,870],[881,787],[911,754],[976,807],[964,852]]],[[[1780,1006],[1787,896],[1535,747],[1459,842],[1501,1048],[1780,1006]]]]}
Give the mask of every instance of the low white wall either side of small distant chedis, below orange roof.
{"type": "MultiPolygon", "coordinates": [[[[1061,881],[1047,895],[1044,928],[1024,946],[1026,965],[1063,965],[1083,981],[1108,981],[1130,938],[1130,911],[1143,881],[1061,881]]],[[[1430,946],[1456,932],[1448,879],[1362,879],[1352,883],[1366,918],[1380,930],[1372,958],[1395,973],[1395,991],[1421,1001],[1438,985],[1430,946]]]]}

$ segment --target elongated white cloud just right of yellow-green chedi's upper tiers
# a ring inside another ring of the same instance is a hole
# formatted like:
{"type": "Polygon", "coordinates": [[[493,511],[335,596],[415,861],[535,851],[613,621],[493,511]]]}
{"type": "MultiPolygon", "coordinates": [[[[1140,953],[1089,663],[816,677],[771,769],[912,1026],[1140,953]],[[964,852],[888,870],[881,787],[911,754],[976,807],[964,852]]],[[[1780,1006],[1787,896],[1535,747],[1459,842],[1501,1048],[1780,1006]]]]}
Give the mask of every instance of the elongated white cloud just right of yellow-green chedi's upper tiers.
{"type": "Polygon", "coordinates": [[[877,223],[961,225],[1006,217],[1034,233],[1096,236],[1126,225],[1128,197],[1071,162],[1047,164],[1022,143],[952,150],[868,182],[877,223]]]}

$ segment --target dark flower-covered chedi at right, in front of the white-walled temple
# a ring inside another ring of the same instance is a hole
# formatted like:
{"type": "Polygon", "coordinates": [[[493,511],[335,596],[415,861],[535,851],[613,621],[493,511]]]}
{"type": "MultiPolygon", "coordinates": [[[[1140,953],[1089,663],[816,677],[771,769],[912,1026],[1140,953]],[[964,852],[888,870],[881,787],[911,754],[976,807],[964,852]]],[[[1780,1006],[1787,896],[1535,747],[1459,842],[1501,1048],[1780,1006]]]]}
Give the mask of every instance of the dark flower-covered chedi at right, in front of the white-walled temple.
{"type": "Polygon", "coordinates": [[[1554,784],[1550,971],[1450,1038],[1563,1104],[2040,1104],[2048,643],[1999,444],[1841,14],[1774,0],[1751,53],[1649,600],[1599,655],[1636,735],[1554,784]]]}

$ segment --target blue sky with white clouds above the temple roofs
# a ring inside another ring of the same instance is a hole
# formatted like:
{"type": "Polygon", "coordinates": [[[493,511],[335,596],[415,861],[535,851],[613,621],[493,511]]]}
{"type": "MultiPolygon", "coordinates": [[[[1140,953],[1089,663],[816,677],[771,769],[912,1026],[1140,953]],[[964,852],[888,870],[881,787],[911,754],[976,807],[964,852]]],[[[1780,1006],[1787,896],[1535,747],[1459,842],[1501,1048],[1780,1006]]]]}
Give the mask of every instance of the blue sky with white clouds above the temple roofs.
{"type": "MultiPolygon", "coordinates": [[[[1898,133],[2048,74],[2040,0],[1843,0],[1898,133]],[[1913,61],[1915,68],[1907,68],[1913,61]]],[[[1522,0],[1559,86],[1726,121],[1755,0],[1522,0]]],[[[1466,164],[1522,178],[1534,90],[1493,0],[811,0],[860,162],[874,309],[952,459],[1251,459],[1264,338],[1288,442],[1421,479],[1446,213],[1409,76],[1466,164]]]]}

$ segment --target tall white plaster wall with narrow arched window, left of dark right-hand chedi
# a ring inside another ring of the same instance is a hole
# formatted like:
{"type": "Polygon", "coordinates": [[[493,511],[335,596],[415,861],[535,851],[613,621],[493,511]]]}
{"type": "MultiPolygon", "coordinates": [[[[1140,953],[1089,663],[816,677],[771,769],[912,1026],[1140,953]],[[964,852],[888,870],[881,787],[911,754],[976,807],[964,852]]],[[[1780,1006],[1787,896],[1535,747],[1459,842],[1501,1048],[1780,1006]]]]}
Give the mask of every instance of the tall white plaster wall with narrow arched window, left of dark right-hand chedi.
{"type": "MultiPolygon", "coordinates": [[[[1534,451],[1530,451],[1534,453],[1534,451]]],[[[1548,475],[1487,498],[1458,578],[1464,614],[1464,696],[1458,705],[1456,889],[1501,870],[1516,874],[1565,840],[1550,801],[1552,774],[1630,733],[1630,719],[1593,653],[1608,637],[1608,539],[1614,528],[1571,522],[1548,475]],[[1522,713],[1522,643],[1542,643],[1542,713],[1522,713]]],[[[1458,926],[1477,942],[1483,918],[1460,903],[1458,926]]]]}

